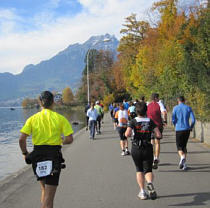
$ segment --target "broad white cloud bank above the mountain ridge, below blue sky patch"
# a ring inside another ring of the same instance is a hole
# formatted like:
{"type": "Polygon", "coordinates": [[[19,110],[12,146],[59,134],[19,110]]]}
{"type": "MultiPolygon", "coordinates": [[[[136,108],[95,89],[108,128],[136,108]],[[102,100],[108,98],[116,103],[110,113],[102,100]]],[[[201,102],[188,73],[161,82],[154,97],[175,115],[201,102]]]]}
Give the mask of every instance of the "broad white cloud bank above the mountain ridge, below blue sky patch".
{"type": "MultiPolygon", "coordinates": [[[[0,72],[20,73],[25,65],[49,59],[69,44],[84,42],[92,35],[105,33],[120,37],[124,18],[137,13],[142,19],[154,0],[79,0],[83,10],[74,17],[60,17],[52,21],[50,13],[34,18],[39,30],[15,32],[21,17],[5,11],[7,21],[1,23],[0,72]],[[7,23],[10,23],[7,24],[7,23]]],[[[57,6],[59,0],[52,0],[57,6]]],[[[1,12],[0,12],[1,13],[1,12]]],[[[19,30],[18,30],[19,31],[19,30]]]]}

